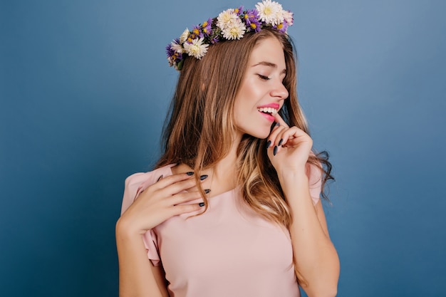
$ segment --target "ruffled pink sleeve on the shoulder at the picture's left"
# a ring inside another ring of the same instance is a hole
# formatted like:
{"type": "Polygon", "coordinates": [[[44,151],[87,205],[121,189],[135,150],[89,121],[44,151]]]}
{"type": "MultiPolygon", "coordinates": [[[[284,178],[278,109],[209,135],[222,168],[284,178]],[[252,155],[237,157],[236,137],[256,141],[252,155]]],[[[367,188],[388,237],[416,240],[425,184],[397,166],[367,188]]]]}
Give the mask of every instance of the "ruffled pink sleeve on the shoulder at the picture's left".
{"type": "MultiPolygon", "coordinates": [[[[125,179],[123,205],[121,207],[121,215],[130,207],[130,205],[138,198],[138,195],[150,184],[156,182],[162,170],[155,170],[152,172],[135,173],[125,179]]],[[[157,236],[153,229],[145,232],[142,236],[145,249],[147,250],[147,257],[152,261],[152,264],[158,266],[160,264],[160,254],[157,245],[157,236]]]]}

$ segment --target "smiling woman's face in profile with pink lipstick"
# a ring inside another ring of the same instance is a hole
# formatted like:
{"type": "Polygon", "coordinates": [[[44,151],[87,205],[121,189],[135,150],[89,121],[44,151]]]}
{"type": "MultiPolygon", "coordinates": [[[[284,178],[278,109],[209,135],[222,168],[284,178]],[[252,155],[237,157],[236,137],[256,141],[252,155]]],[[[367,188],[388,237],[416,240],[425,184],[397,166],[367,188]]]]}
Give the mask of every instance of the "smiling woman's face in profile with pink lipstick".
{"type": "Polygon", "coordinates": [[[288,90],[282,81],[286,75],[284,50],[274,37],[256,44],[249,57],[242,85],[234,102],[237,137],[249,134],[257,138],[269,135],[288,90]]]}

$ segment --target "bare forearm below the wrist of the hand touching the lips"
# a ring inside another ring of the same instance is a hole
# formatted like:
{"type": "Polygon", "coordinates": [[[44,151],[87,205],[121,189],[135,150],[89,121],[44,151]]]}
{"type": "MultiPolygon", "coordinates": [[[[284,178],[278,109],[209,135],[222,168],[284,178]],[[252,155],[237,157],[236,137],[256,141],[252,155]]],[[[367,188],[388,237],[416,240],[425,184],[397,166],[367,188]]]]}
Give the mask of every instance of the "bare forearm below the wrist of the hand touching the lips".
{"type": "Polygon", "coordinates": [[[279,180],[293,217],[290,234],[299,283],[308,296],[336,296],[339,259],[321,201],[313,206],[305,172],[279,180]]]}

